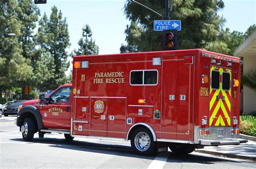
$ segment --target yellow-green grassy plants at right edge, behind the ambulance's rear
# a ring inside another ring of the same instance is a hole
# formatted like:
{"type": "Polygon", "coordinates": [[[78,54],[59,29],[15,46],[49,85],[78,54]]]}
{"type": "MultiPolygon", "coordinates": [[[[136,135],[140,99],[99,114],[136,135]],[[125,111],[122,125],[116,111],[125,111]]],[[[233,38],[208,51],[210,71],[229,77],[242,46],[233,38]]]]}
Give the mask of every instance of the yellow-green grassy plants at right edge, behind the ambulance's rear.
{"type": "Polygon", "coordinates": [[[256,137],[256,117],[240,116],[240,130],[244,135],[256,137]]]}

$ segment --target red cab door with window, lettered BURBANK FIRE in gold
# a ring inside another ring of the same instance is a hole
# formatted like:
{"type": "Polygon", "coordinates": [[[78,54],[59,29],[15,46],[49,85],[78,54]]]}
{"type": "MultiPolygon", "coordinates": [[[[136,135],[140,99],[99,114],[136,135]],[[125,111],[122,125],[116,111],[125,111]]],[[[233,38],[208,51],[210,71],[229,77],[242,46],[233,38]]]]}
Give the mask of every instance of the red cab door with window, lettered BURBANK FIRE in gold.
{"type": "Polygon", "coordinates": [[[49,102],[42,104],[41,114],[45,128],[70,129],[70,93],[71,86],[57,89],[49,97],[49,102]]]}

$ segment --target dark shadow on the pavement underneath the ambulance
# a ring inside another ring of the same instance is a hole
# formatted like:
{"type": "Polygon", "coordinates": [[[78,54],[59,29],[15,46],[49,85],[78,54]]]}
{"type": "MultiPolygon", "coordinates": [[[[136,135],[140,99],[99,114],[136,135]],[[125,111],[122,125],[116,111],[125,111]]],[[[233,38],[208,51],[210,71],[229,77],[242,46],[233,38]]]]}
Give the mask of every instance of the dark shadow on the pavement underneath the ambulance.
{"type": "MultiPolygon", "coordinates": [[[[22,138],[10,139],[16,142],[24,142],[22,138]]],[[[140,159],[150,159],[153,160],[156,156],[146,157],[139,156],[134,153],[131,149],[131,146],[124,145],[110,145],[110,144],[100,144],[100,143],[91,143],[86,141],[73,140],[72,142],[67,142],[64,138],[34,138],[33,142],[26,142],[28,144],[48,144],[51,147],[56,147],[59,149],[69,149],[76,151],[84,151],[84,152],[93,152],[93,153],[103,153],[103,154],[111,154],[115,156],[124,156],[124,157],[132,157],[132,158],[140,158],[140,159]]],[[[231,162],[231,163],[246,163],[247,161],[235,161],[232,159],[224,159],[218,157],[206,157],[203,154],[187,154],[185,156],[177,156],[173,154],[171,151],[168,152],[160,152],[160,153],[168,153],[169,158],[167,159],[167,163],[198,163],[198,164],[214,164],[216,162],[231,162]]],[[[160,159],[161,160],[161,159],[160,159]]],[[[166,159],[163,159],[164,161],[166,159]]],[[[248,161],[247,163],[251,163],[248,161]]]]}

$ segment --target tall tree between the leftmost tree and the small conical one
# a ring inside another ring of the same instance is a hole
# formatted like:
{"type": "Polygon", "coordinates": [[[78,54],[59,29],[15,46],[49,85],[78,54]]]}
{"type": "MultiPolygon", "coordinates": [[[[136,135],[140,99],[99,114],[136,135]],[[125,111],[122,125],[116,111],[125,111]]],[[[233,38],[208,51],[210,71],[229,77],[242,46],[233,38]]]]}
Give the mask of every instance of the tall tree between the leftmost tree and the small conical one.
{"type": "Polygon", "coordinates": [[[68,81],[65,71],[69,68],[68,52],[66,48],[70,46],[68,24],[66,18],[63,18],[62,12],[56,6],[52,7],[50,19],[44,14],[39,21],[39,29],[37,40],[45,59],[41,61],[43,64],[48,61],[46,70],[52,72],[49,79],[39,87],[41,89],[56,89],[58,86],[68,81]],[[51,62],[49,62],[49,54],[51,62]]]}

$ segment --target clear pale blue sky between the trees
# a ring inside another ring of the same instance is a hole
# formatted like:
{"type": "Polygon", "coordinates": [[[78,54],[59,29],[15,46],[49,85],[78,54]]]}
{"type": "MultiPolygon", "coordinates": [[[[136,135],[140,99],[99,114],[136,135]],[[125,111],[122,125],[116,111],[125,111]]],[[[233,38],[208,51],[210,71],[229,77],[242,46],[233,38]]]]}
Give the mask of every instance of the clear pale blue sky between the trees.
{"type": "MultiPolygon", "coordinates": [[[[256,23],[256,0],[223,1],[225,8],[218,13],[226,19],[224,28],[245,32],[256,23]]],[[[99,54],[113,54],[120,53],[121,44],[126,44],[124,31],[130,21],[124,15],[125,2],[126,0],[48,0],[46,4],[37,6],[41,10],[41,16],[45,12],[49,17],[53,5],[62,11],[69,25],[71,46],[68,52],[78,48],[82,27],[89,24],[92,38],[99,46],[99,54]]]]}

